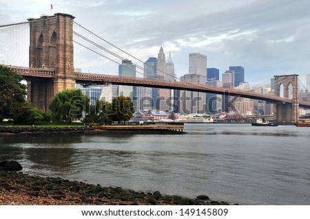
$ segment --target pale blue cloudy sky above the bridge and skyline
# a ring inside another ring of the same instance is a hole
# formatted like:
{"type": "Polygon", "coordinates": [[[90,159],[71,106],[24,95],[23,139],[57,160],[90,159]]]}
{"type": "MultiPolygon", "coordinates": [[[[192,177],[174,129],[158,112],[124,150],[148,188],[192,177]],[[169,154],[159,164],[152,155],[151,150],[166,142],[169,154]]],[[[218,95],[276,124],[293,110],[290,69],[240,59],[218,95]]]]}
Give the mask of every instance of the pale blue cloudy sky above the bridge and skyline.
{"type": "MultiPolygon", "coordinates": [[[[310,73],[309,0],[0,0],[0,25],[57,12],[141,60],[171,53],[178,77],[189,53],[207,67],[245,68],[256,86],[275,75],[310,73]],[[50,10],[50,4],[53,10],[50,10]]],[[[130,57],[128,57],[130,59],[130,57]]],[[[220,76],[221,77],[221,76],[220,76]]]]}

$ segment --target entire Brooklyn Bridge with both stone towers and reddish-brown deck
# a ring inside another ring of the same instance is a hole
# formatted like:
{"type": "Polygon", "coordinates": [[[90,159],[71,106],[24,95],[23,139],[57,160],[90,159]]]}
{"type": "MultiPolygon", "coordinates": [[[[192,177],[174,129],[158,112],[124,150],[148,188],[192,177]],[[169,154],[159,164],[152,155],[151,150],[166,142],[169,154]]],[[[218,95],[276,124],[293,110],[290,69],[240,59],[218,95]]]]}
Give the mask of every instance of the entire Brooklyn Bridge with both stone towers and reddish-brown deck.
{"type": "MultiPolygon", "coordinates": [[[[194,84],[175,80],[156,80],[150,78],[132,78],[112,76],[109,73],[81,73],[74,71],[74,16],[56,13],[28,19],[30,25],[29,67],[10,66],[16,70],[28,84],[28,100],[39,108],[48,109],[50,100],[56,93],[65,89],[74,89],[80,84],[118,84],[138,87],[156,87],[184,91],[216,93],[220,95],[247,97],[264,100],[274,104],[274,122],[276,124],[293,124],[298,121],[298,109],[310,108],[310,102],[298,100],[298,75],[275,77],[275,93],[262,93],[226,89],[221,87],[194,84]],[[283,95],[280,97],[280,87],[283,95]],[[289,94],[289,87],[291,94],[289,94]]],[[[0,28],[23,23],[1,25],[0,28]]],[[[87,39],[86,39],[87,40],[87,39]]],[[[112,51],[110,51],[112,53],[112,51]]]]}

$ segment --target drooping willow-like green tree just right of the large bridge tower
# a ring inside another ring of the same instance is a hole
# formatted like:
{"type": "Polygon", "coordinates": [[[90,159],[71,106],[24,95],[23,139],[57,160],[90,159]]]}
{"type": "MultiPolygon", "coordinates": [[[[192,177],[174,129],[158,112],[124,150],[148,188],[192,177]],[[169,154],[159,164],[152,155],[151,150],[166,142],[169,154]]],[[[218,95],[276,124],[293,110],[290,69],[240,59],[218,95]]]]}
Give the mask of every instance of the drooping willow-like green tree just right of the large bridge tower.
{"type": "Polygon", "coordinates": [[[61,91],[54,96],[49,108],[54,120],[72,122],[89,111],[90,99],[81,90],[61,91]]]}

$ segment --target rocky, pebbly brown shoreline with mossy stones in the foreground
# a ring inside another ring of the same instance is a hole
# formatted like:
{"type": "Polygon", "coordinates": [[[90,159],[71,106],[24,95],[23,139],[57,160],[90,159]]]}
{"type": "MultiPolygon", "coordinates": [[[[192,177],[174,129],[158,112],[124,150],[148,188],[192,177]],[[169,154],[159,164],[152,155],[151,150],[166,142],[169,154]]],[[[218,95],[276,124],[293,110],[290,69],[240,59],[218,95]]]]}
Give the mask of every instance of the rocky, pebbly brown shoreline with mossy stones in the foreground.
{"type": "Polygon", "coordinates": [[[161,192],[135,192],[63,178],[30,176],[0,171],[0,205],[229,205],[201,195],[165,196],[161,192]]]}

